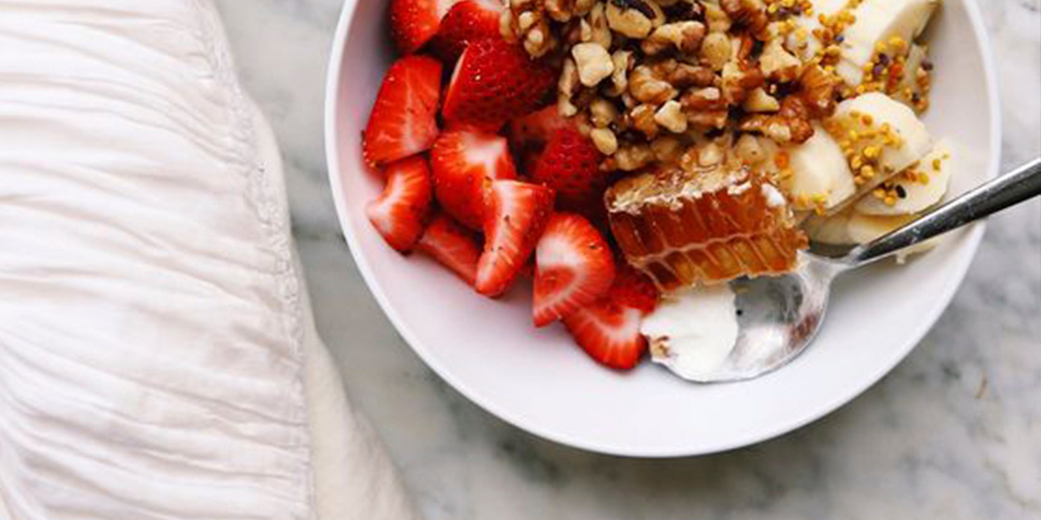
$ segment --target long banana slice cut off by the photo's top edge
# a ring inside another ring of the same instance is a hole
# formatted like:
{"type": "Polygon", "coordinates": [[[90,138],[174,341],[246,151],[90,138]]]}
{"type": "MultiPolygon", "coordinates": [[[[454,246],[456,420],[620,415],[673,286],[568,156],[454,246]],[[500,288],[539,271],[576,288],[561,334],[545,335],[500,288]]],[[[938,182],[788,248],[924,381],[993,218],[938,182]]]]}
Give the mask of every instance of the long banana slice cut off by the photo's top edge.
{"type": "Polygon", "coordinates": [[[857,21],[846,28],[842,59],[835,72],[849,86],[861,84],[864,67],[875,47],[894,37],[910,44],[921,34],[939,0],[864,0],[854,10],[857,21]]]}

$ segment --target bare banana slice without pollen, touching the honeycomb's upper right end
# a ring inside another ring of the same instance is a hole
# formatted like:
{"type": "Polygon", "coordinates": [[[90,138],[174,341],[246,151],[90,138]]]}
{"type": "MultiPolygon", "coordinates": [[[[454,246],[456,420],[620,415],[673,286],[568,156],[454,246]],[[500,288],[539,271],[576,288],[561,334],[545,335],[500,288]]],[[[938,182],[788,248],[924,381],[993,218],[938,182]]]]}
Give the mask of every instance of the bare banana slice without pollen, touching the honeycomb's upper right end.
{"type": "Polygon", "coordinates": [[[792,170],[788,192],[796,201],[822,198],[817,204],[827,210],[853,197],[857,186],[839,144],[820,125],[814,124],[813,130],[813,137],[788,150],[792,170]]]}

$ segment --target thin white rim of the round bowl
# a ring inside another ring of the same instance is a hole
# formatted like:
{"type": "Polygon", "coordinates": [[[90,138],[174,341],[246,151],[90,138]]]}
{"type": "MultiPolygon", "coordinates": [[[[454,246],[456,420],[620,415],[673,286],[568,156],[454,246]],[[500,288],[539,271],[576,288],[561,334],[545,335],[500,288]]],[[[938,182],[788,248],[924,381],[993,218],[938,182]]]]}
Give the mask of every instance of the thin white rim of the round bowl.
{"type": "MultiPolygon", "coordinates": [[[[457,378],[449,367],[445,366],[440,362],[437,356],[435,356],[422,341],[420,341],[417,335],[411,327],[409,327],[405,319],[403,319],[395,310],[395,307],[390,304],[389,297],[383,292],[380,285],[373,282],[373,280],[375,280],[373,269],[369,260],[361,254],[360,241],[349,225],[350,219],[347,216],[347,203],[341,197],[344,186],[340,182],[340,167],[338,163],[337,142],[339,142],[339,134],[336,128],[336,114],[339,108],[338,92],[342,73],[345,46],[349,29],[354,22],[354,16],[360,1],[364,0],[346,0],[344,3],[339,21],[336,26],[335,36],[332,41],[329,53],[329,64],[326,75],[324,128],[327,174],[329,176],[329,185],[332,189],[332,199],[336,209],[336,217],[339,223],[340,231],[344,233],[344,238],[347,241],[351,256],[353,257],[358,270],[361,272],[361,276],[365,281],[365,286],[369,288],[373,296],[376,297],[376,301],[379,303],[383,313],[387,316],[390,323],[395,327],[399,334],[401,334],[402,338],[409,345],[409,347],[427,366],[437,373],[438,376],[448,382],[467,399],[477,404],[480,408],[484,409],[491,415],[520,430],[560,444],[577,447],[587,451],[612,456],[653,459],[717,453],[758,444],[775,437],[780,437],[814,422],[841,408],[845,404],[850,402],[892,371],[893,368],[895,368],[900,361],[907,358],[907,356],[911,354],[911,352],[921,342],[925,334],[932,330],[933,326],[940,318],[940,315],[950,305],[955,293],[961,287],[966,275],[968,274],[968,268],[972,263],[972,260],[975,258],[976,251],[980,248],[980,242],[982,241],[986,230],[986,224],[984,222],[970,226],[966,230],[967,236],[963,238],[963,243],[955,250],[957,263],[954,268],[957,277],[957,283],[947,284],[944,287],[944,292],[939,294],[938,300],[942,301],[943,305],[934,307],[933,311],[929,315],[923,316],[924,319],[917,320],[916,328],[911,334],[908,335],[909,341],[907,341],[900,348],[893,348],[890,354],[890,359],[881,364],[880,369],[875,370],[873,373],[865,374],[865,376],[862,378],[857,384],[850,385],[842,393],[836,393],[833,398],[823,401],[815,408],[807,409],[798,414],[792,414],[790,419],[777,422],[769,427],[763,427],[755,432],[748,432],[740,436],[735,436],[729,440],[729,442],[722,442],[709,446],[691,446],[690,448],[682,448],[675,445],[664,447],[643,446],[638,448],[633,446],[616,446],[555,432],[544,425],[535,423],[535,421],[528,417],[514,415],[504,407],[500,407],[499,404],[494,402],[492,399],[484,397],[481,392],[469,387],[466,382],[457,378]]],[[[972,31],[976,41],[980,43],[980,52],[984,68],[984,80],[987,88],[987,103],[988,109],[990,110],[989,146],[993,151],[990,161],[987,164],[986,178],[992,179],[997,176],[1000,167],[1001,107],[998,96],[997,76],[990,43],[990,35],[984,24],[983,15],[980,10],[981,8],[979,4],[972,0],[956,1],[960,1],[965,6],[972,31]]]]}

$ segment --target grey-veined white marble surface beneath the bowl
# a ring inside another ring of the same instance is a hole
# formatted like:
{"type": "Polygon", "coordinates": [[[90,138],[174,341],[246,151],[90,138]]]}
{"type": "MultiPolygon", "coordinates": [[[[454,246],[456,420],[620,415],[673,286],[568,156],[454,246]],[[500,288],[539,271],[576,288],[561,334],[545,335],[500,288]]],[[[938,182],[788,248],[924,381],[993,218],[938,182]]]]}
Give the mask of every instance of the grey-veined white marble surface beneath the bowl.
{"type": "MultiPolygon", "coordinates": [[[[977,1],[998,62],[1008,167],[1041,153],[1041,1],[977,1]]],[[[320,332],[429,519],[1041,518],[1041,203],[992,219],[933,332],[830,416],[703,458],[560,446],[496,419],[426,368],[351,261],[322,138],[340,2],[218,0],[242,75],[281,140],[320,332]]]]}

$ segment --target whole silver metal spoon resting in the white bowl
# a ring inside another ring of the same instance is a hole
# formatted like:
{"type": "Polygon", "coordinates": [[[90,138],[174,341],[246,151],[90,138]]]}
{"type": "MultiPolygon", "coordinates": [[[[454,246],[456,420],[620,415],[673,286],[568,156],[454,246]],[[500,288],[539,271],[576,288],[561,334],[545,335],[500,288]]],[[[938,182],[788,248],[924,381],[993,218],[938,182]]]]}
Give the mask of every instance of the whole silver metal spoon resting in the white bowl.
{"type": "Polygon", "coordinates": [[[832,281],[837,276],[1038,194],[1041,194],[1041,159],[987,182],[842,256],[803,252],[798,269],[787,276],[732,282],[741,311],[737,342],[726,361],[699,381],[748,380],[788,363],[810,345],[820,329],[832,281]]]}

